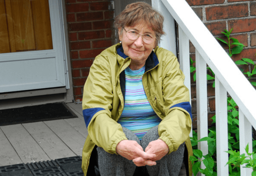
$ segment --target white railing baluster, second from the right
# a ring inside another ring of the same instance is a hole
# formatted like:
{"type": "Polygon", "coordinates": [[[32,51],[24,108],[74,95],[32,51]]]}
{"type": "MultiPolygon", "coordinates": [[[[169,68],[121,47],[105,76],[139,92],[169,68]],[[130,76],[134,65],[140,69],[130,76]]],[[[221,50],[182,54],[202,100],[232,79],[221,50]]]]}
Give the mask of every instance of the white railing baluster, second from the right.
{"type": "Polygon", "coordinates": [[[227,91],[215,77],[217,175],[228,175],[227,91]]]}

